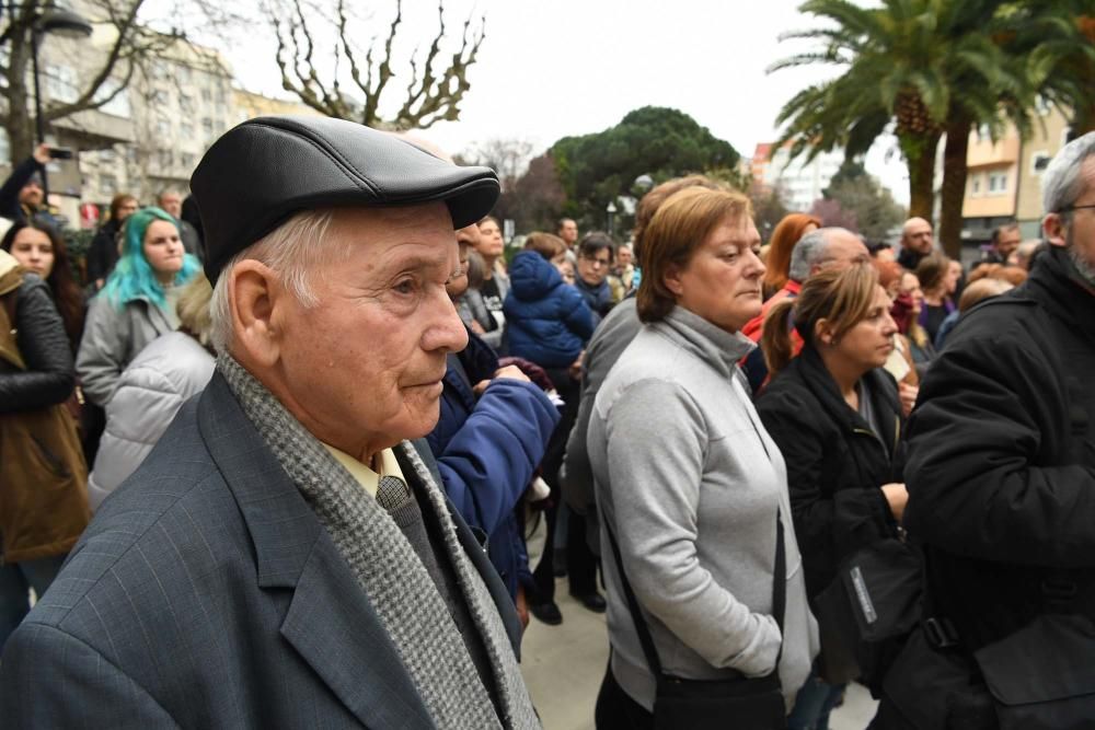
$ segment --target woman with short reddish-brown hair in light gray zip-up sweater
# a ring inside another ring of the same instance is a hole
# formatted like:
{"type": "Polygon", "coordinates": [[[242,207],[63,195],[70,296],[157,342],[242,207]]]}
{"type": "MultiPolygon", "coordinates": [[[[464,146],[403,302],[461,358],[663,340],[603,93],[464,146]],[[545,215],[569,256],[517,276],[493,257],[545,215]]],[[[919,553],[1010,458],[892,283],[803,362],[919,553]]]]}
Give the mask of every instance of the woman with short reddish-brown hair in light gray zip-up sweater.
{"type": "Polygon", "coordinates": [[[644,327],[587,437],[612,646],[601,730],[725,726],[731,684],[762,691],[749,727],[783,728],[817,653],[783,456],[737,364],[754,347],[740,329],[760,312],[759,248],[739,193],[676,193],[644,232],[644,327]],[[683,685],[704,696],[670,716],[683,685]]]}

